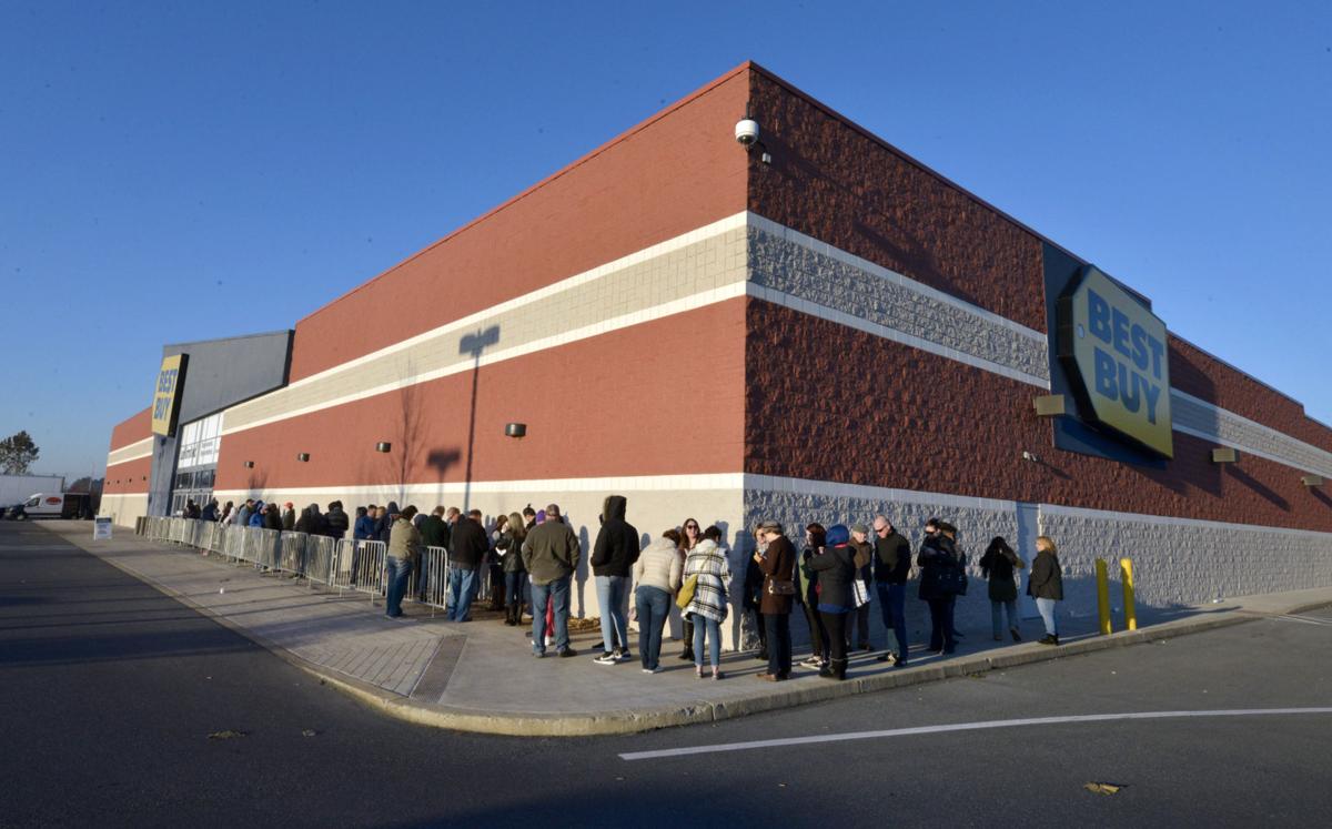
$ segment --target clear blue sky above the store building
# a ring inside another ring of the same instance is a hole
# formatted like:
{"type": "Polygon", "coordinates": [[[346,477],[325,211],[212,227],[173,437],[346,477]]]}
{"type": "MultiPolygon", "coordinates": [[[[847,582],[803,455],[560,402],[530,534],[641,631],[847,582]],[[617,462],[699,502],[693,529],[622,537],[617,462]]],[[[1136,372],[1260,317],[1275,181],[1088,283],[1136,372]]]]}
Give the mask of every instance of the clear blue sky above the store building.
{"type": "Polygon", "coordinates": [[[1332,422],[1327,0],[0,0],[0,436],[100,470],[164,343],[292,328],[746,59],[1332,422]]]}

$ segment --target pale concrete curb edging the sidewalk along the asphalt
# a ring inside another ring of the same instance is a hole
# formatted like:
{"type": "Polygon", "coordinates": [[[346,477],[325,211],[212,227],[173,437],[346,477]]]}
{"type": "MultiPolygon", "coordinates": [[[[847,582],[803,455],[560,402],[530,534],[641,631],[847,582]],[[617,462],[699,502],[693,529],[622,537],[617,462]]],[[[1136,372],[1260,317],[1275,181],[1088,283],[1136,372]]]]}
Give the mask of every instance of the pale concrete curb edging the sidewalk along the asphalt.
{"type": "MultiPolygon", "coordinates": [[[[894,688],[908,688],[926,682],[986,673],[1020,665],[1048,662],[1052,660],[1108,650],[1111,648],[1127,648],[1150,641],[1160,641],[1191,633],[1229,628],[1259,618],[1271,617],[1271,613],[1255,610],[1223,610],[1203,614],[1200,618],[1181,618],[1163,622],[1138,630],[1120,630],[1108,636],[1092,636],[1056,648],[1039,646],[1034,642],[1015,645],[994,656],[974,654],[955,658],[942,665],[922,665],[907,668],[900,672],[888,672],[867,677],[854,677],[842,682],[802,684],[799,688],[786,688],[769,693],[755,693],[749,697],[739,697],[713,702],[699,700],[686,705],[658,706],[646,709],[610,709],[595,713],[545,713],[545,712],[486,712],[449,705],[430,705],[418,702],[409,697],[402,697],[382,688],[362,682],[360,680],[342,676],[328,668],[310,662],[281,645],[265,640],[225,616],[214,613],[209,608],[196,604],[189,596],[153,580],[113,558],[107,558],[88,548],[84,548],[60,533],[68,544],[79,546],[87,553],[115,566],[123,573],[137,578],[152,586],[159,593],[168,596],[202,616],[216,621],[228,630],[232,630],[249,641],[260,645],[285,662],[317,677],[322,684],[329,685],[380,713],[397,717],[406,722],[428,725],[448,730],[470,732],[477,734],[500,734],[511,737],[593,737],[610,734],[635,734],[655,730],[659,728],[673,728],[679,725],[698,725],[705,722],[719,722],[734,720],[749,714],[758,714],[813,702],[827,702],[862,693],[891,690],[894,688]],[[1020,648],[1012,652],[1014,648],[1020,648]]],[[[1327,606],[1329,602],[1317,601],[1285,609],[1284,613],[1304,613],[1327,606]]]]}

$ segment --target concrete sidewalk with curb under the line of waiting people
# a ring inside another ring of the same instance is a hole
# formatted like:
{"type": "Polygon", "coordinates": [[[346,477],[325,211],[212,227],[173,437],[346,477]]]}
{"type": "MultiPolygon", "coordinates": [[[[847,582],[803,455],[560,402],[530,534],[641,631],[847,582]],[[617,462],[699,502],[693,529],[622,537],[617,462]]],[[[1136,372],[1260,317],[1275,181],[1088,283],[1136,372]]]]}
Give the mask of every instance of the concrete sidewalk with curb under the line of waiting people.
{"type": "MultiPolygon", "coordinates": [[[[675,658],[679,645],[670,640],[658,674],[642,673],[637,658],[594,664],[599,633],[574,634],[577,658],[534,660],[525,634],[530,628],[505,626],[500,614],[477,613],[473,622],[452,624],[432,617],[429,608],[405,604],[405,616],[389,620],[382,601],[372,605],[365,594],[310,590],[305,582],[147,541],[124,528],[117,528],[115,540],[93,541],[87,521],[39,525],[386,713],[440,728],[517,736],[633,733],[713,722],[1332,604],[1332,588],[1237,597],[1180,608],[1168,617],[1143,620],[1139,630],[1112,636],[1088,629],[1094,620],[1064,626],[1068,620],[1062,618],[1066,644],[1058,648],[1030,641],[1040,636],[1039,622],[1023,629],[1028,642],[1019,645],[994,642],[988,630],[971,629],[950,657],[922,656],[914,641],[912,664],[904,669],[860,653],[844,682],[821,680],[809,669],[797,669],[786,682],[758,682],[754,674],[765,664],[750,653],[733,653],[722,657],[725,678],[713,681],[695,678],[693,664],[675,658]]],[[[807,652],[795,658],[803,656],[807,652]]]]}

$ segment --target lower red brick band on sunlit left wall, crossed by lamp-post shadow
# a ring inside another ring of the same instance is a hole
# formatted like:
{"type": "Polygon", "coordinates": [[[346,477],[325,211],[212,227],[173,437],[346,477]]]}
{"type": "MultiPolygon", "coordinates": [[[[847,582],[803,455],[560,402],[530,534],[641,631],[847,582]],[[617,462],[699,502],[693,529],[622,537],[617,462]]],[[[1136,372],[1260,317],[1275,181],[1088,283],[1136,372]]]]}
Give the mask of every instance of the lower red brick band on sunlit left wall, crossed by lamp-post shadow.
{"type": "MultiPolygon", "coordinates": [[[[738,297],[482,367],[472,480],[738,472],[743,331],[738,297]]],[[[468,372],[226,434],[217,489],[464,481],[470,400],[468,372]]]]}

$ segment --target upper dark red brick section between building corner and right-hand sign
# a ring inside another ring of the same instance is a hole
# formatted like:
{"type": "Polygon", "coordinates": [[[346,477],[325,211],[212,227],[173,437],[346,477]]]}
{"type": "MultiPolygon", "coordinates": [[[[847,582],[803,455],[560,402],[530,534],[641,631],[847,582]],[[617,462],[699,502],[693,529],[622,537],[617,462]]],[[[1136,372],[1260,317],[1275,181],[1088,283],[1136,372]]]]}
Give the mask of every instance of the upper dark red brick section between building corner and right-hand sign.
{"type": "Polygon", "coordinates": [[[773,155],[751,164],[751,211],[1046,329],[1039,239],[765,71],[750,77],[773,155]]]}

